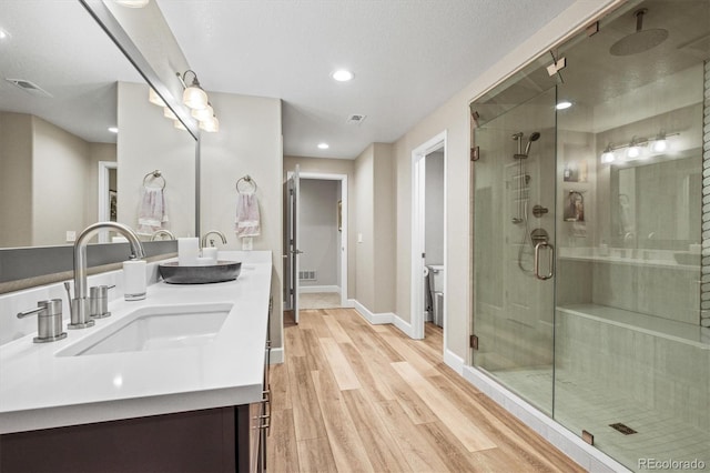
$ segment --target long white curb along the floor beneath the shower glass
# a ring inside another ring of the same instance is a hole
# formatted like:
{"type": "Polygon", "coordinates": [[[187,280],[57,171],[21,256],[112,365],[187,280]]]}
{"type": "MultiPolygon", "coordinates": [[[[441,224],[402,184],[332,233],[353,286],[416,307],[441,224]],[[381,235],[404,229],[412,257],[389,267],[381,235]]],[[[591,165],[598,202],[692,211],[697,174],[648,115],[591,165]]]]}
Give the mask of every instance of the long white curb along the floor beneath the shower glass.
{"type": "Polygon", "coordinates": [[[524,424],[540,434],[588,472],[629,472],[621,463],[589,445],[480,370],[473,366],[464,366],[462,374],[464,379],[478,388],[488,397],[500,404],[506,411],[518,417],[524,424]]]}

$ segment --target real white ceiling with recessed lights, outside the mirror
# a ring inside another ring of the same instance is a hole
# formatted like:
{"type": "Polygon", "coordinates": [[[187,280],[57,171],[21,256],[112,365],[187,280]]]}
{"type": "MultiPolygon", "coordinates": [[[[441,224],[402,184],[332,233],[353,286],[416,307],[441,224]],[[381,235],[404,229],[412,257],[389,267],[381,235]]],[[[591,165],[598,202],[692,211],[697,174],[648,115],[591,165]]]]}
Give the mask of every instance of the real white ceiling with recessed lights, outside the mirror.
{"type": "Polygon", "coordinates": [[[205,90],[282,99],[284,154],[341,159],[396,141],[574,3],[156,1],[205,90]]]}

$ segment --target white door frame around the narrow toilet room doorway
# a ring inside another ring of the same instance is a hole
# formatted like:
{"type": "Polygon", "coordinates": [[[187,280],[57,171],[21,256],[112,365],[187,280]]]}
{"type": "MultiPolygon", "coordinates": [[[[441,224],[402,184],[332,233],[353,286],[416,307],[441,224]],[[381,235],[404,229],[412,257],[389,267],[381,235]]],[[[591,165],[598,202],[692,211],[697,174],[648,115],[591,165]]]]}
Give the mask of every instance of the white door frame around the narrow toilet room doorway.
{"type": "MultiPolygon", "coordinates": [[[[425,251],[425,184],[426,184],[426,155],[433,151],[442,149],[444,151],[444,294],[447,294],[447,274],[448,274],[448,251],[447,251],[447,132],[444,130],[437,135],[430,138],[419,144],[412,151],[412,280],[410,280],[410,320],[412,320],[412,338],[416,340],[424,339],[424,266],[425,261],[422,256],[425,251]]],[[[444,329],[444,346],[446,351],[446,298],[444,299],[443,311],[443,329],[444,329]]]]}

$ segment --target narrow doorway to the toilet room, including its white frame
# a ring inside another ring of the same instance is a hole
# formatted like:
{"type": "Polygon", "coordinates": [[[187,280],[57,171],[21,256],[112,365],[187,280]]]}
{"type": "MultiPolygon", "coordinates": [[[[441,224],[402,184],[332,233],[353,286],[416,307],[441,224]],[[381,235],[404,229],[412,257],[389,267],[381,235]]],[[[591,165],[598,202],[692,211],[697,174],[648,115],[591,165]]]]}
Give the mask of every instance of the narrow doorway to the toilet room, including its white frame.
{"type": "Polygon", "coordinates": [[[412,334],[444,331],[446,346],[446,131],[412,152],[412,334]]]}

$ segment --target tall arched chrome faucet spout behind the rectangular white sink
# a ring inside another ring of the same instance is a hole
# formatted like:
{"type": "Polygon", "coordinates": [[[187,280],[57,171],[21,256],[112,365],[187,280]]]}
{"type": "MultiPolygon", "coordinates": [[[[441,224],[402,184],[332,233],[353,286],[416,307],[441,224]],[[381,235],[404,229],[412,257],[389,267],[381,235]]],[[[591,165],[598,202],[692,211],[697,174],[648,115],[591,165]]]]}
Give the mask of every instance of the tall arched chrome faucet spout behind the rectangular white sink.
{"type": "MultiPolygon", "coordinates": [[[[143,245],[135,232],[128,225],[116,222],[98,222],[87,227],[74,242],[74,298],[70,298],[71,323],[69,329],[85,329],[94,321],[90,318],[90,300],[87,296],[87,243],[101,229],[111,229],[125,236],[131,245],[131,259],[145,258],[143,245]]],[[[69,293],[69,282],[64,283],[69,293]]]]}

